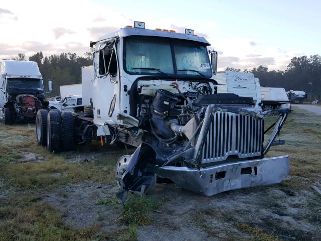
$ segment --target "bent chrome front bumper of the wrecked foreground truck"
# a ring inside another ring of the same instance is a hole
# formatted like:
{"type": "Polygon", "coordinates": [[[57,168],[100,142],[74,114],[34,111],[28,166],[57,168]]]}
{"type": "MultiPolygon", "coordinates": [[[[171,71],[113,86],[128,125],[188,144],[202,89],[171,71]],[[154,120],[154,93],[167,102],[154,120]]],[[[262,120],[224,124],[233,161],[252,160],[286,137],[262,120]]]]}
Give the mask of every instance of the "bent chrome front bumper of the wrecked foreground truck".
{"type": "Polygon", "coordinates": [[[279,183],[289,173],[288,156],[220,164],[206,168],[163,166],[157,175],[181,188],[212,196],[229,190],[279,183]]]}

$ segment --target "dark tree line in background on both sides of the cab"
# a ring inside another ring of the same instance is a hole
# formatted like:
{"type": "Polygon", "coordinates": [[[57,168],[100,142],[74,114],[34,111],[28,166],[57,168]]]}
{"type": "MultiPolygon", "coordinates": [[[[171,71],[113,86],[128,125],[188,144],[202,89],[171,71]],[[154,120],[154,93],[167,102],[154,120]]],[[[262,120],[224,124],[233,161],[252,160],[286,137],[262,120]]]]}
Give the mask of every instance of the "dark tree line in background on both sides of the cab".
{"type": "MultiPolygon", "coordinates": [[[[25,54],[19,53],[15,60],[25,60],[25,54]]],[[[29,57],[29,61],[38,63],[43,78],[51,79],[53,91],[48,96],[60,94],[60,85],[81,83],[81,66],[92,65],[92,55],[85,53],[85,57],[75,53],[61,53],[44,56],[42,52],[29,57]]],[[[227,67],[225,70],[238,71],[227,67]]],[[[301,56],[291,59],[286,70],[271,70],[260,65],[243,72],[252,72],[260,79],[261,86],[283,87],[285,90],[303,90],[308,93],[308,99],[321,99],[321,56],[301,56]]]]}

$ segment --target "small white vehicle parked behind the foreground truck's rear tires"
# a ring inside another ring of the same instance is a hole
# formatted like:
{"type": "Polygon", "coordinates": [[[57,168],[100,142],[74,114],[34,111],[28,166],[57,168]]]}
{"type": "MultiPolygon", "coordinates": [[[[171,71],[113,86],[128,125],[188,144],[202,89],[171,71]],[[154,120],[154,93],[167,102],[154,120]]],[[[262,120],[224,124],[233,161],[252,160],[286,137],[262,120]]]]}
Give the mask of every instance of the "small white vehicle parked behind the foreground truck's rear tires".
{"type": "Polygon", "coordinates": [[[83,111],[81,95],[71,95],[65,97],[62,101],[49,101],[49,108],[59,109],[60,111],[83,111]]]}

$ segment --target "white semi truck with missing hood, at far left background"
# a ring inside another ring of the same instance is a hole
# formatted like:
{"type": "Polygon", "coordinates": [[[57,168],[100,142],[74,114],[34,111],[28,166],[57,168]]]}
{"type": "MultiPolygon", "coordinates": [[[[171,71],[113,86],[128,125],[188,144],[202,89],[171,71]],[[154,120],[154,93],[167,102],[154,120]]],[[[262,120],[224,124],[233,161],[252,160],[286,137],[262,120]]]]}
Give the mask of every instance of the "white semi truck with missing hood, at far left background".
{"type": "MultiPolygon", "coordinates": [[[[48,79],[47,79],[48,80],[48,79]]],[[[51,91],[48,80],[48,92],[51,91]]],[[[5,125],[14,121],[35,121],[39,109],[47,109],[44,79],[34,61],[4,60],[0,69],[0,119],[5,125]]]]}

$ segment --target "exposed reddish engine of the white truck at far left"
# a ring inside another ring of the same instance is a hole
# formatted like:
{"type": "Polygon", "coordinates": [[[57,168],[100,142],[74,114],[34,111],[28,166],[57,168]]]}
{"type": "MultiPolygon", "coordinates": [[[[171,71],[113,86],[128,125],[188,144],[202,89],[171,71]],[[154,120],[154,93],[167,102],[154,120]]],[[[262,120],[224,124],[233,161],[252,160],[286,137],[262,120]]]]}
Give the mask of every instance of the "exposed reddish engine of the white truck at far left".
{"type": "Polygon", "coordinates": [[[29,120],[36,116],[38,109],[42,108],[42,103],[33,95],[19,94],[14,106],[18,117],[29,120]]]}

